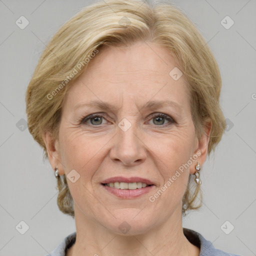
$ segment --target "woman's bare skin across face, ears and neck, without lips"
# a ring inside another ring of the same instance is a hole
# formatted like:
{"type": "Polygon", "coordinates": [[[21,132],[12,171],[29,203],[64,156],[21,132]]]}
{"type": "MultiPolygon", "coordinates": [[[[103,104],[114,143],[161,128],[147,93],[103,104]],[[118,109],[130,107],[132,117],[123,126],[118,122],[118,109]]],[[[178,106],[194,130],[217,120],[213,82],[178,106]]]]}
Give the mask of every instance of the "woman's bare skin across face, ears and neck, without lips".
{"type": "Polygon", "coordinates": [[[175,66],[178,63],[167,49],[157,44],[103,46],[65,95],[59,136],[54,140],[47,131],[44,141],[52,169],[58,166],[60,175],[75,169],[80,175],[74,183],[67,178],[76,224],[76,242],[68,256],[199,255],[199,248],[182,232],[181,200],[196,161],[200,165],[205,161],[210,124],[198,139],[184,77],[175,81],[169,75],[175,66]],[[91,100],[114,108],[74,109],[91,100]],[[181,107],[143,108],[151,100],[171,100],[181,107]],[[106,117],[80,122],[102,112],[106,117]],[[149,116],[152,113],[154,117],[149,116]],[[159,121],[159,113],[174,122],[159,121]],[[123,118],[131,124],[126,131],[118,127],[123,118]],[[150,202],[148,197],[196,152],[201,153],[196,161],[150,202]],[[119,175],[145,177],[155,186],[137,198],[119,198],[101,185],[119,175]],[[130,226],[125,234],[118,228],[123,221],[130,226]]]}

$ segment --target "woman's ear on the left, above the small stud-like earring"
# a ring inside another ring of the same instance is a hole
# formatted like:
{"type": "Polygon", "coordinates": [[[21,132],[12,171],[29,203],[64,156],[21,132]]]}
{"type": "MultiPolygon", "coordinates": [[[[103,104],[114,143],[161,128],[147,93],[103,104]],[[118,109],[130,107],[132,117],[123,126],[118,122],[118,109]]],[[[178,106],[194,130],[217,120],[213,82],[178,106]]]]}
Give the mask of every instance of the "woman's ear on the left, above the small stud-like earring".
{"type": "Polygon", "coordinates": [[[59,175],[64,174],[63,164],[61,163],[60,153],[59,153],[59,142],[54,139],[51,132],[45,131],[43,134],[43,141],[46,146],[48,159],[53,171],[55,171],[56,166],[58,166],[59,175]]]}

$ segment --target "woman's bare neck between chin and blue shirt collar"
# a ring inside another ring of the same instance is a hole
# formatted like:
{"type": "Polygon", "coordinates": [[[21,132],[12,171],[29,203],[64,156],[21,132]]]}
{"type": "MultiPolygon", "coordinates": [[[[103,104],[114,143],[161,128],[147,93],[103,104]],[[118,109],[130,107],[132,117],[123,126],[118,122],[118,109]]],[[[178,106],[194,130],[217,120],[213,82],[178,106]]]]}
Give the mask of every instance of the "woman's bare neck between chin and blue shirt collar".
{"type": "Polygon", "coordinates": [[[199,248],[183,234],[181,216],[177,218],[175,212],[162,225],[135,235],[116,234],[75,212],[76,241],[66,256],[199,255],[199,248]]]}

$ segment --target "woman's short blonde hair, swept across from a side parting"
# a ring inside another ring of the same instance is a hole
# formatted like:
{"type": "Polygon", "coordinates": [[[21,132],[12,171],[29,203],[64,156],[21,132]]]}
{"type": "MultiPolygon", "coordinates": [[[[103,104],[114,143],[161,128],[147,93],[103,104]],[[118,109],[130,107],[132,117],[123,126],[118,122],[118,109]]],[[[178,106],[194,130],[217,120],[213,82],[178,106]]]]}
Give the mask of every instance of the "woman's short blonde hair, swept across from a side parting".
{"type": "MultiPolygon", "coordinates": [[[[165,46],[178,61],[190,92],[191,115],[200,137],[211,121],[208,155],[225,128],[219,106],[221,77],[216,60],[196,26],[178,7],[168,3],[138,0],[98,1],[83,8],[54,34],[43,51],[26,90],[28,130],[44,149],[43,133],[56,139],[63,97],[86,69],[89,59],[102,45],[131,45],[136,41],[165,46]]],[[[182,199],[182,214],[198,209],[195,199],[200,186],[192,189],[189,175],[182,199]],[[194,190],[194,191],[192,191],[194,190]]],[[[58,178],[59,209],[74,217],[73,200],[66,177],[58,178]]],[[[201,201],[201,194],[198,197],[201,201]]]]}

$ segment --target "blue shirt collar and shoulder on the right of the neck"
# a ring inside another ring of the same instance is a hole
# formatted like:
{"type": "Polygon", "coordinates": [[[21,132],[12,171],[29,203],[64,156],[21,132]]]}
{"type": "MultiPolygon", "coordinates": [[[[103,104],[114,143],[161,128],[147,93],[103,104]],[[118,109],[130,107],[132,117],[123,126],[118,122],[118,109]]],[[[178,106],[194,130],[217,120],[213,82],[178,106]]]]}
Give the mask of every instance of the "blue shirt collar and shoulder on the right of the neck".
{"type": "Polygon", "coordinates": [[[200,248],[199,256],[240,256],[216,249],[209,240],[206,240],[200,233],[192,229],[183,227],[183,233],[189,242],[200,248]]]}

